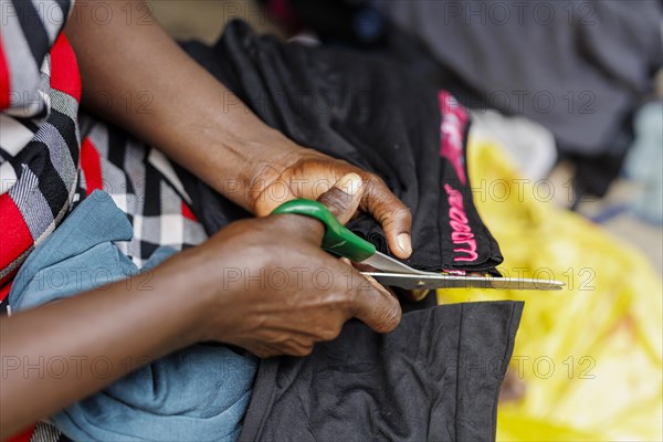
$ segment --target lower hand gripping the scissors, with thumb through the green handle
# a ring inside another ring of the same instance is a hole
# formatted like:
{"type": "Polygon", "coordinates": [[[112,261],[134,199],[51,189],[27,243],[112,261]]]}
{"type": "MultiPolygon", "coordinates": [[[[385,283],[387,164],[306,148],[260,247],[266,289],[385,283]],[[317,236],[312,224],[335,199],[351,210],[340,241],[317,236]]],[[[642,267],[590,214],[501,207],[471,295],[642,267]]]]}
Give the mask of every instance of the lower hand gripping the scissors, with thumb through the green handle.
{"type": "MultiPolygon", "coordinates": [[[[318,201],[345,223],[362,188],[360,177],[350,173],[318,201]]],[[[218,290],[210,292],[204,338],[260,357],[304,356],[315,343],[338,336],[352,317],[378,333],[396,328],[401,317],[397,298],[324,252],[323,234],[317,220],[278,214],[232,223],[198,248],[201,275],[222,272],[221,281],[213,278],[218,290]]]]}

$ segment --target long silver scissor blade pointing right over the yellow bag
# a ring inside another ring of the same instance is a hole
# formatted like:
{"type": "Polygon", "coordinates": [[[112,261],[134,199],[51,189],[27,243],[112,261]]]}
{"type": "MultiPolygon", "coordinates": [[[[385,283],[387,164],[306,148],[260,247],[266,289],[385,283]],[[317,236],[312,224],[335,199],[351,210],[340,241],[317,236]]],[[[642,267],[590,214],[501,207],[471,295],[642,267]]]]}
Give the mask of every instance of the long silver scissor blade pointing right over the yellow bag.
{"type": "Polygon", "coordinates": [[[422,272],[422,274],[364,272],[364,274],[375,277],[382,285],[393,285],[406,290],[476,287],[497,290],[557,291],[565,286],[562,282],[550,280],[457,276],[441,275],[430,272],[422,272]]]}

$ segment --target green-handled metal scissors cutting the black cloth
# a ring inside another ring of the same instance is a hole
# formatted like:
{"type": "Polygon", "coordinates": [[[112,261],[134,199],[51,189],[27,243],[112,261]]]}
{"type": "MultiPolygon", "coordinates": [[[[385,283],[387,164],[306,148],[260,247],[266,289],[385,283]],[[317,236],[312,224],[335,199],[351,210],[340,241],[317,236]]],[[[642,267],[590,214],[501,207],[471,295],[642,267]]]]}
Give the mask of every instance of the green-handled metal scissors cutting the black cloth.
{"type": "Polygon", "coordinates": [[[336,255],[347,257],[376,269],[376,272],[362,272],[375,277],[382,285],[392,285],[406,290],[414,288],[498,288],[498,290],[560,290],[565,284],[559,281],[465,276],[412,269],[376,250],[370,242],[346,229],[323,203],[298,199],[277,207],[273,214],[299,214],[315,218],[325,225],[323,249],[336,255]]]}

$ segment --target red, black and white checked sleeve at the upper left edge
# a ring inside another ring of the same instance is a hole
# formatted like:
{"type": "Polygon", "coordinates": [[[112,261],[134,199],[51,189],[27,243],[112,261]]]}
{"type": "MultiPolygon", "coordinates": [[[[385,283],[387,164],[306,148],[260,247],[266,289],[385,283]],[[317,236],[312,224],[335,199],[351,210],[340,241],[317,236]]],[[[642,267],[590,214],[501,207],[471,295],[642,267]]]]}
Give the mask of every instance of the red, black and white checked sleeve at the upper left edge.
{"type": "Polygon", "coordinates": [[[66,215],[76,190],[81,77],[60,33],[71,1],[54,3],[0,0],[0,286],[66,215]]]}

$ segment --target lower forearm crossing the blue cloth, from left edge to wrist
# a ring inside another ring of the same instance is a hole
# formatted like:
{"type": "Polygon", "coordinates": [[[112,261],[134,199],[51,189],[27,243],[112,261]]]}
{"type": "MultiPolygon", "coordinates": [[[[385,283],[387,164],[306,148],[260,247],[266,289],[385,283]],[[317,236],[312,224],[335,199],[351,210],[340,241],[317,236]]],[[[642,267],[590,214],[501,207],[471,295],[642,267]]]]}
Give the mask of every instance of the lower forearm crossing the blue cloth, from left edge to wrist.
{"type": "Polygon", "coordinates": [[[139,276],[0,319],[0,439],[207,338],[200,324],[211,287],[196,274],[198,261],[181,254],[149,282],[139,276]]]}

